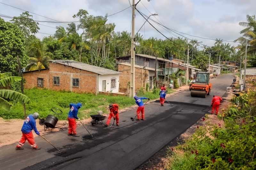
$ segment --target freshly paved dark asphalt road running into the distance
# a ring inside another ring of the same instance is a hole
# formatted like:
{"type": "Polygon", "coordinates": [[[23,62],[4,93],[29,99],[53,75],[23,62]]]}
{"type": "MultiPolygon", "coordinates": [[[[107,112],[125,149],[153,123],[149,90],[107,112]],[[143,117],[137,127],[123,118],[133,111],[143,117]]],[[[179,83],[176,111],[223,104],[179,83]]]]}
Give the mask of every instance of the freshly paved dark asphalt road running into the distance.
{"type": "MultiPolygon", "coordinates": [[[[212,94],[222,96],[233,82],[231,74],[211,79],[212,94]]],[[[136,109],[120,113],[120,126],[104,128],[86,124],[95,137],[90,138],[83,126],[77,128],[80,137],[67,136],[67,130],[52,132],[44,137],[61,152],[57,152],[43,138],[36,137],[41,150],[16,151],[11,144],[0,148],[0,169],[135,169],[178,137],[207,110],[212,95],[207,98],[190,97],[190,91],[175,94],[161,107],[159,100],[145,106],[145,121],[131,121],[136,109]]],[[[107,118],[106,118],[107,119],[107,118]]],[[[113,122],[113,119],[112,119],[113,122]]]]}

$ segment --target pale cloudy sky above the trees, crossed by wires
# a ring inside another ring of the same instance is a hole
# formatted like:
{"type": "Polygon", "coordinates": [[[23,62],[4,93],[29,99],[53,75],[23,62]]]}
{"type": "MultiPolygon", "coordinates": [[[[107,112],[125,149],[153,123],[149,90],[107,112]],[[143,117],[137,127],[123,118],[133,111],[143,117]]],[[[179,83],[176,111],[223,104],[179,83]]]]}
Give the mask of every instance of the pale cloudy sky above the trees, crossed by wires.
{"type": "MultiPolygon", "coordinates": [[[[137,3],[139,0],[135,0],[137,3]]],[[[33,12],[34,20],[53,21],[78,21],[78,18],[72,16],[79,9],[88,11],[89,15],[105,16],[122,11],[130,7],[129,0],[0,0],[0,14],[8,16],[19,16],[23,9],[33,12]],[[20,8],[16,9],[5,4],[20,8]],[[42,16],[48,17],[44,18],[42,16]]],[[[130,0],[132,3],[132,0],[130,0]]],[[[246,22],[246,15],[255,15],[255,0],[141,0],[136,7],[139,11],[149,16],[157,14],[150,18],[161,23],[162,25],[182,32],[180,35],[166,30],[159,25],[150,21],[166,37],[187,37],[188,39],[197,39],[198,42],[207,46],[212,46],[217,39],[224,41],[234,41],[241,36],[239,33],[244,27],[239,26],[239,22],[246,22]],[[186,35],[187,33],[194,36],[214,39],[206,40],[202,38],[186,35]],[[182,35],[182,36],[181,36],[182,35]]],[[[144,18],[136,11],[135,32],[144,23],[144,18]]],[[[10,19],[4,18],[5,21],[10,19]]],[[[115,23],[115,31],[131,31],[132,8],[128,8],[118,14],[108,17],[107,23],[115,23]]],[[[67,27],[64,23],[39,23],[40,33],[36,36],[40,39],[54,34],[56,26],[67,27]],[[46,33],[46,34],[44,34],[46,33]]],[[[82,33],[79,30],[78,33],[82,33]]],[[[148,23],[143,26],[139,32],[146,39],[156,37],[165,39],[148,23]]],[[[183,37],[183,38],[184,38],[183,37]]],[[[190,41],[190,40],[189,40],[190,41]]],[[[224,42],[225,43],[225,42],[224,42]]],[[[226,42],[236,46],[238,43],[226,42]]]]}

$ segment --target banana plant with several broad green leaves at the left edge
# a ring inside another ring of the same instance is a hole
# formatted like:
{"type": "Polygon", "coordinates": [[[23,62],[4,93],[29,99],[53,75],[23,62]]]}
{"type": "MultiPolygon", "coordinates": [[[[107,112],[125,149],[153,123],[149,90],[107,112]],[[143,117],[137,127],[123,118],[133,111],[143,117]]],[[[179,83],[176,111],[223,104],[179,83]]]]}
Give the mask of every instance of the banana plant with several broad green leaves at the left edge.
{"type": "Polygon", "coordinates": [[[30,99],[24,94],[13,90],[3,89],[10,83],[18,81],[21,81],[21,77],[11,76],[11,73],[9,72],[1,73],[0,71],[0,107],[7,111],[10,111],[12,104],[5,99],[18,100],[21,103],[25,104],[28,104],[30,102],[30,99]]]}

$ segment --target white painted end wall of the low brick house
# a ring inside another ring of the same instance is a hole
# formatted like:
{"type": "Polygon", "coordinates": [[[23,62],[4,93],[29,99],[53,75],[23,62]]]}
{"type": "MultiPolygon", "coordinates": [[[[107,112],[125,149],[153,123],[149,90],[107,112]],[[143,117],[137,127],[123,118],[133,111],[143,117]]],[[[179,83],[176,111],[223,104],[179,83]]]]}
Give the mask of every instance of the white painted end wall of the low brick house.
{"type": "Polygon", "coordinates": [[[117,93],[119,89],[119,74],[108,74],[108,75],[99,75],[99,92],[102,91],[102,81],[106,80],[106,92],[112,90],[112,93],[117,93]],[[116,78],[116,88],[110,89],[111,87],[111,78],[116,78]]]}

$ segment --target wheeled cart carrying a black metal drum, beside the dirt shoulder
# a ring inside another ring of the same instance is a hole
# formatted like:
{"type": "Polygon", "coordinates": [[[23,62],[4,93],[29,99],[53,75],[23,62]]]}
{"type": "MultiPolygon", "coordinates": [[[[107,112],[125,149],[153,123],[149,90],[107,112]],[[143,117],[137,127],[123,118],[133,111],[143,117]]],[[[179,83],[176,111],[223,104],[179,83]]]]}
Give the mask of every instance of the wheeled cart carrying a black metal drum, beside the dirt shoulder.
{"type": "MultiPolygon", "coordinates": [[[[62,114],[62,111],[60,109],[58,109],[57,107],[52,107],[51,110],[54,113],[54,115],[61,115],[62,114]]],[[[50,112],[49,112],[49,114],[50,114],[50,112]]],[[[44,125],[44,131],[46,131],[48,129],[49,132],[50,132],[50,128],[51,128],[51,131],[52,131],[52,129],[60,128],[61,126],[64,126],[64,125],[68,124],[67,122],[57,123],[59,119],[56,116],[49,115],[49,114],[45,119],[44,118],[39,119],[39,124],[42,125],[42,126],[44,125]]],[[[60,129],[62,129],[62,128],[60,128],[60,129]]]]}

